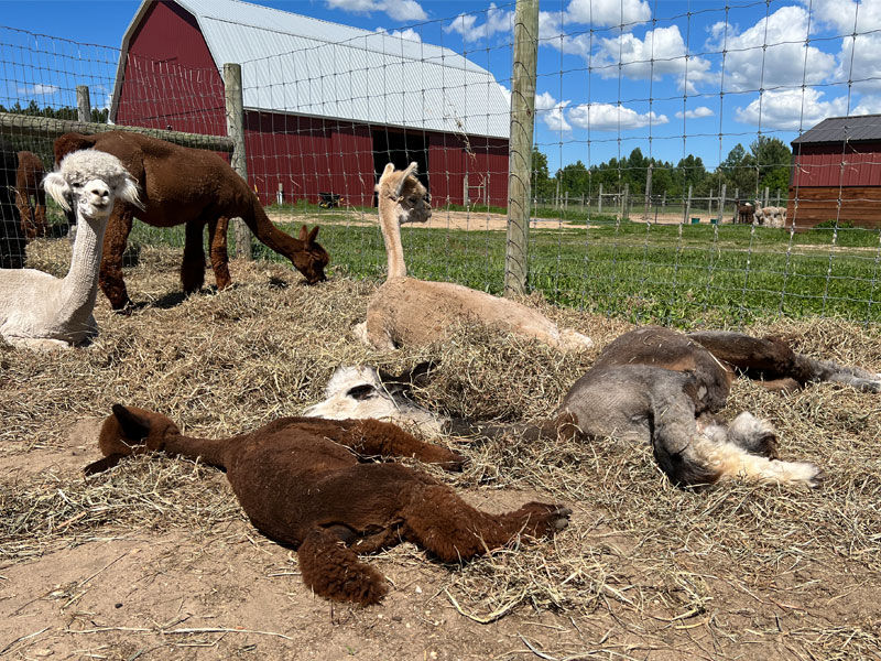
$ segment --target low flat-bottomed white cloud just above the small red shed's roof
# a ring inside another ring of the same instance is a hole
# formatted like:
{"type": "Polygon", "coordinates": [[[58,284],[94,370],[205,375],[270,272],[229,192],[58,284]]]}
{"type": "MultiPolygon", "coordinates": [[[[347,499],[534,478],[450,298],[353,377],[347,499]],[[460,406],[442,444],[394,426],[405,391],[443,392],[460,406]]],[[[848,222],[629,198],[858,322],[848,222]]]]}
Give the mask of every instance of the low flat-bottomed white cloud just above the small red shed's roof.
{"type": "Polygon", "coordinates": [[[746,108],[735,110],[741,123],[761,126],[763,129],[786,131],[807,130],[827,117],[847,115],[847,97],[824,100],[824,93],[807,87],[782,91],[765,91],[746,108]]]}

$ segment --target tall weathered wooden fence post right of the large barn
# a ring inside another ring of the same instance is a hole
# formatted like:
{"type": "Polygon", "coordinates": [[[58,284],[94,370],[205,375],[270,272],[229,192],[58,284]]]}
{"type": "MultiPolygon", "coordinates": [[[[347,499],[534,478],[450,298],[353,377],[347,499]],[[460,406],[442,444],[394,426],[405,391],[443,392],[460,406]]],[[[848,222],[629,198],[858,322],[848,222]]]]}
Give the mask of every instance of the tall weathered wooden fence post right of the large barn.
{"type": "Polygon", "coordinates": [[[529,274],[530,169],[539,63],[539,0],[516,0],[511,71],[511,141],[508,156],[508,241],[504,295],[526,292],[529,274]]]}

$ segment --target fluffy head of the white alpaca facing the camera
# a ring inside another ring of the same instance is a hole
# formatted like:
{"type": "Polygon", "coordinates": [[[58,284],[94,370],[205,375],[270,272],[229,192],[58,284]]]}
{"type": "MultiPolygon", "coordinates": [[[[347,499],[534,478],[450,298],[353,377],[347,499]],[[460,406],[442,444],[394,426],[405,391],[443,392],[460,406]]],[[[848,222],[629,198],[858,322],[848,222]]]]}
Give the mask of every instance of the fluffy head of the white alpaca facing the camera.
{"type": "Polygon", "coordinates": [[[86,149],[67,154],[43,187],[65,210],[86,220],[107,220],[117,199],[143,208],[138,184],[112,154],[86,149]]]}

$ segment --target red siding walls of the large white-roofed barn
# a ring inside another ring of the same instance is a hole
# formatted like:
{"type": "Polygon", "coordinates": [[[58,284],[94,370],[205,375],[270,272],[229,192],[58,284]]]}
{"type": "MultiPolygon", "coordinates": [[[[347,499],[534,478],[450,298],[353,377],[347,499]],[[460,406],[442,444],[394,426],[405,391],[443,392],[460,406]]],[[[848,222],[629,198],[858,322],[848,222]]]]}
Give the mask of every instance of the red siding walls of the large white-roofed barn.
{"type": "MultiPolygon", "coordinates": [[[[195,18],[173,2],[154,2],[129,42],[113,121],[120,124],[226,136],[224,83],[195,18]]],[[[381,128],[381,127],[379,127],[381,128]]],[[[376,130],[377,127],[373,127],[376,130]]],[[[396,130],[396,129],[395,129],[396,130]]],[[[424,132],[429,192],[435,206],[508,203],[508,141],[424,132]]],[[[282,112],[246,110],[248,183],[262,204],[318,202],[319,192],[349,204],[373,202],[371,127],[282,112]]]]}

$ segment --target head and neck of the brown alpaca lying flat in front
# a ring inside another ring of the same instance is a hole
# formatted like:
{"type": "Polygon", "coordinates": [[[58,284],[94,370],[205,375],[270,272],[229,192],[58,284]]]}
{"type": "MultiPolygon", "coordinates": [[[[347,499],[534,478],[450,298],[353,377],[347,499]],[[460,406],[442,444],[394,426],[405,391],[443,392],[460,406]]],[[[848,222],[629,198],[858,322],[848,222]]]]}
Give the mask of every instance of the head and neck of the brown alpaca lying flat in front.
{"type": "Polygon", "coordinates": [[[86,475],[112,468],[122,457],[149,452],[163,452],[226,467],[226,440],[184,436],[171,419],[145,409],[113,404],[112,411],[104,421],[98,437],[98,446],[105,456],[86,466],[86,475]]]}

